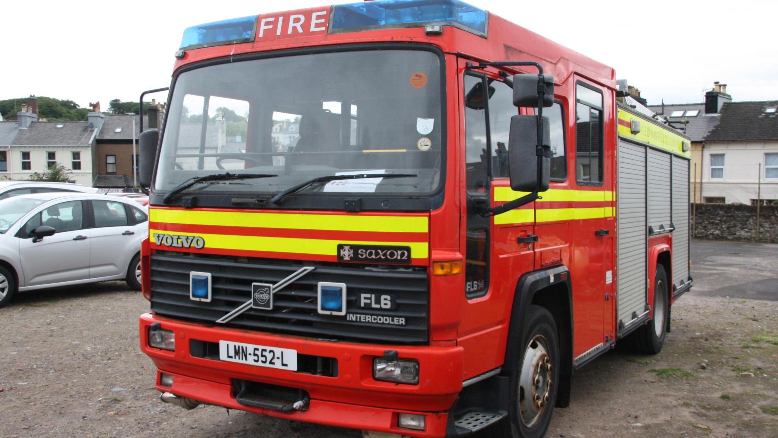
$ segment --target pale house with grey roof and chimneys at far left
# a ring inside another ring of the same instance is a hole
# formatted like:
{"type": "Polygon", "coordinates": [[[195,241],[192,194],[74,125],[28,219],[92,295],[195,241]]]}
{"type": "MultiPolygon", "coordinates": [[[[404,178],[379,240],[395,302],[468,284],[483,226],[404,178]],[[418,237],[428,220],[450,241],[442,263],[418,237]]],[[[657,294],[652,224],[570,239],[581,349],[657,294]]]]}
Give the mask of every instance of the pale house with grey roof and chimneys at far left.
{"type": "Polygon", "coordinates": [[[6,125],[9,122],[2,123],[2,132],[13,139],[6,150],[0,146],[0,152],[6,154],[5,171],[0,170],[0,175],[27,179],[56,162],[72,169],[73,182],[91,186],[92,147],[103,121],[99,105],[89,112],[87,122],[40,122],[37,101],[37,97],[30,96],[22,111],[16,113],[16,135],[6,125]]]}

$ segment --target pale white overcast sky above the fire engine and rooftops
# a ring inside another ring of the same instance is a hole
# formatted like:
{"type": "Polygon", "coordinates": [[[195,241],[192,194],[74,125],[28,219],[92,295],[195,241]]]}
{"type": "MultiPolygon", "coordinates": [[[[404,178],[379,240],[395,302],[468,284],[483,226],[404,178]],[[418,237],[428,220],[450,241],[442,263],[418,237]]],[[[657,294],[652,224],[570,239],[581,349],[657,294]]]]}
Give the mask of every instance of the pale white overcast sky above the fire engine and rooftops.
{"type": "MultiPolygon", "coordinates": [[[[778,99],[774,0],[470,2],[611,65],[649,104],[703,101],[716,80],[735,101],[778,99]]],[[[36,94],[82,107],[100,101],[105,110],[111,99],[135,101],[143,90],[170,84],[187,26],[324,4],[7,0],[0,100],[36,94]]]]}

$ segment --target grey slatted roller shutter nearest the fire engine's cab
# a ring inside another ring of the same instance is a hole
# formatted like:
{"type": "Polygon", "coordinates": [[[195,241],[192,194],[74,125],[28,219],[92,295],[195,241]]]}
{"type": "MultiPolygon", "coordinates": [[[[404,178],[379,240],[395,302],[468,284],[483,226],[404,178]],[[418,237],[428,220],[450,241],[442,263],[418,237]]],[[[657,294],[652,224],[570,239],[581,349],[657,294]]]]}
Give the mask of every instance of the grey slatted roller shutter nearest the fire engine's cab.
{"type": "Polygon", "coordinates": [[[629,323],[646,306],[646,148],[619,142],[619,320],[629,323]]]}

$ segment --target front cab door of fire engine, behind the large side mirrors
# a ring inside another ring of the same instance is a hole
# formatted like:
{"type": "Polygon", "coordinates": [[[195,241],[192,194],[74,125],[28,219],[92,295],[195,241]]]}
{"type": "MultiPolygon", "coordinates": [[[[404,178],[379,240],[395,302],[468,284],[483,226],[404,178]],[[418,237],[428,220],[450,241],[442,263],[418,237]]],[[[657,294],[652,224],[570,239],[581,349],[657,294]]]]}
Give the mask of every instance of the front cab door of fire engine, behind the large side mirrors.
{"type": "Polygon", "coordinates": [[[519,274],[532,269],[534,203],[496,217],[482,216],[483,209],[521,196],[510,189],[507,167],[510,117],[519,109],[513,106],[513,90],[496,69],[474,72],[464,59],[459,67],[465,278],[459,292],[464,307],[457,344],[468,351],[464,368],[472,376],[504,360],[501,328],[509,322],[519,274]]]}

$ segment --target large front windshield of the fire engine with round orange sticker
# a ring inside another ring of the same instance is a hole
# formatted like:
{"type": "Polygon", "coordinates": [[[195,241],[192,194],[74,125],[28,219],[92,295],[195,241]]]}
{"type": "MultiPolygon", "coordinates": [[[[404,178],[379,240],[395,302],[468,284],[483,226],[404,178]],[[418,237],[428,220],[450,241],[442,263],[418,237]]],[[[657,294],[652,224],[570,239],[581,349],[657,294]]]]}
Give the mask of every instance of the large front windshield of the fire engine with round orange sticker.
{"type": "MultiPolygon", "coordinates": [[[[155,189],[216,173],[271,174],[193,185],[184,194],[436,192],[443,157],[441,61],[424,50],[335,51],[183,72],[166,111],[155,189]]],[[[320,194],[321,193],[321,194],[320,194]]]]}

